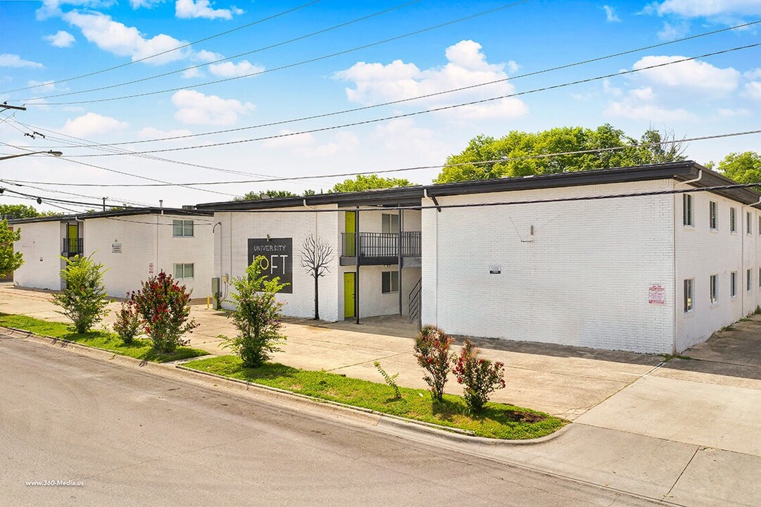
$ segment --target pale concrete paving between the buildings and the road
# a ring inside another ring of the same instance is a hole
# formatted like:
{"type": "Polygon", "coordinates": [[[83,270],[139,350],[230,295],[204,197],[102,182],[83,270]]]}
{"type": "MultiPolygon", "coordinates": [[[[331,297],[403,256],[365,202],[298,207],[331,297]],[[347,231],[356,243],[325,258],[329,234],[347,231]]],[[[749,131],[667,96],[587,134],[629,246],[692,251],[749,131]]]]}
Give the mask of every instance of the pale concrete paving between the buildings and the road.
{"type": "MultiPolygon", "coordinates": [[[[0,286],[0,312],[64,320],[49,294],[8,286],[0,286]]],[[[192,313],[201,327],[191,344],[226,353],[218,335],[234,329],[224,315],[203,305],[192,313]]],[[[361,325],[287,320],[288,343],[275,360],[380,381],[379,360],[400,373],[400,385],[425,388],[412,357],[415,333],[393,318],[361,325]]],[[[700,360],[476,342],[483,356],[507,365],[508,387],[493,400],[575,422],[532,445],[447,446],[677,505],[761,505],[761,317],[684,352],[700,360]]],[[[459,388],[450,381],[447,391],[459,388]]]]}

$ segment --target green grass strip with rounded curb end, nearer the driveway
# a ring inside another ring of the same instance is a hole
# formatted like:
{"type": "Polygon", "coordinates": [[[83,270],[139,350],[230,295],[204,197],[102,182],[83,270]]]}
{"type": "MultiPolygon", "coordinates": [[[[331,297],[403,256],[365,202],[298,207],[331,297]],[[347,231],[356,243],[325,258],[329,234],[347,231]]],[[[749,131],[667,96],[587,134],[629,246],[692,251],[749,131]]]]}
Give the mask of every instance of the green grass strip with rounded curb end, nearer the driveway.
{"type": "Polygon", "coordinates": [[[470,416],[465,400],[460,396],[445,394],[442,403],[434,403],[428,391],[400,387],[401,398],[396,399],[393,388],[387,384],[325,371],[304,371],[279,363],[243,368],[236,356],[199,359],[185,366],[394,416],[466,429],[487,438],[538,438],[555,432],[566,423],[546,413],[502,403],[489,403],[480,416],[470,416]]]}

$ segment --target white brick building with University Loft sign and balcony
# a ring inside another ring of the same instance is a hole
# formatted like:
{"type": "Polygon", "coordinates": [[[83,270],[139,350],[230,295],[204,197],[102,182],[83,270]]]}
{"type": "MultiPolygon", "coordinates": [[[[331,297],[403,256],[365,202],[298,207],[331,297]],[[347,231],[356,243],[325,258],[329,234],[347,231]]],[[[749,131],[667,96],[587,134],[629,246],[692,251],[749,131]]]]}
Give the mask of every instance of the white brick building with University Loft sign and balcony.
{"type": "Polygon", "coordinates": [[[198,208],[221,224],[223,282],[250,245],[291,240],[288,315],[314,316],[299,250],[317,234],[336,253],[323,320],[420,310],[453,334],[681,352],[761,303],[759,194],[699,190],[731,183],[685,161],[198,208]]]}

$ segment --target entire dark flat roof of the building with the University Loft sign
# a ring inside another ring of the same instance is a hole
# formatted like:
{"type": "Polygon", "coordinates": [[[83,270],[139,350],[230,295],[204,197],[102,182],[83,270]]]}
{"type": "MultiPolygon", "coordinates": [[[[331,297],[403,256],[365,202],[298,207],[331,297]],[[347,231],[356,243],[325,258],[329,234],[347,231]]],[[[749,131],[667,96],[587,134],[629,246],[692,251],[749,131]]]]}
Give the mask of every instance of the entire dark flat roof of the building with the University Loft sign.
{"type": "MultiPolygon", "coordinates": [[[[712,171],[695,161],[665,162],[662,164],[575,171],[559,174],[542,174],[528,177],[503,177],[491,180],[473,180],[457,183],[417,185],[390,189],[365,190],[361,192],[321,193],[314,196],[254,199],[250,201],[205,202],[196,206],[199,210],[247,211],[256,209],[290,208],[296,206],[320,206],[336,204],[350,206],[419,206],[420,200],[430,197],[458,196],[476,193],[510,192],[514,190],[540,190],[562,187],[603,185],[674,179],[677,181],[700,180],[689,183],[693,187],[719,187],[737,184],[736,181],[712,171]],[[702,173],[701,173],[702,171],[702,173]]],[[[761,186],[761,185],[759,185],[761,186]]],[[[715,190],[718,195],[743,204],[756,204],[761,194],[750,188],[715,190]]],[[[756,206],[759,207],[759,206],[756,206]]]]}

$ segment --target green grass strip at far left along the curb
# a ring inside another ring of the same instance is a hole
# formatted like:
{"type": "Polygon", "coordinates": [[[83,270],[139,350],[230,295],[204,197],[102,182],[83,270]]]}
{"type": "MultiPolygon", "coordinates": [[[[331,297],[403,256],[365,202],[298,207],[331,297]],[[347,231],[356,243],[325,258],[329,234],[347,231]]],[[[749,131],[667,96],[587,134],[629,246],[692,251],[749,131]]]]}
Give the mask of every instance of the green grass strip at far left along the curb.
{"type": "Polygon", "coordinates": [[[104,331],[89,331],[88,333],[72,333],[67,324],[49,322],[26,315],[0,314],[0,326],[15,327],[34,334],[62,338],[82,345],[106,349],[121,356],[145,359],[152,362],[177,361],[177,359],[189,359],[198,356],[206,356],[209,352],[189,347],[179,347],[170,354],[158,353],[151,348],[150,340],[135,340],[129,345],[124,343],[119,336],[104,331]]]}

